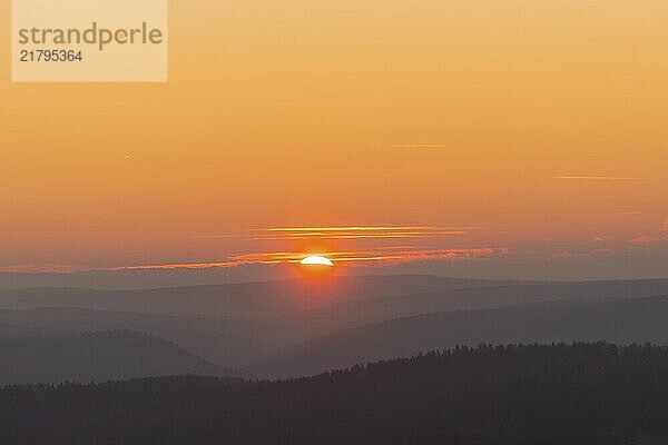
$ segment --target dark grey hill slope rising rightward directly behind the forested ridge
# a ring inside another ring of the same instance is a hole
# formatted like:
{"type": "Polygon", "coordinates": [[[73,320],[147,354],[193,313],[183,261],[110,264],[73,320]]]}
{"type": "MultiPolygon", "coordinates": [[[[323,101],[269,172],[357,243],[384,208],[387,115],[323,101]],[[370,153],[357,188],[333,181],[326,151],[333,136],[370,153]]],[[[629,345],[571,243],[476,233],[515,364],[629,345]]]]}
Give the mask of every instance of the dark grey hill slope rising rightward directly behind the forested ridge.
{"type": "Polygon", "coordinates": [[[313,375],[357,363],[480,343],[668,344],[668,297],[566,300],[426,314],[334,332],[259,362],[248,375],[313,375]]]}

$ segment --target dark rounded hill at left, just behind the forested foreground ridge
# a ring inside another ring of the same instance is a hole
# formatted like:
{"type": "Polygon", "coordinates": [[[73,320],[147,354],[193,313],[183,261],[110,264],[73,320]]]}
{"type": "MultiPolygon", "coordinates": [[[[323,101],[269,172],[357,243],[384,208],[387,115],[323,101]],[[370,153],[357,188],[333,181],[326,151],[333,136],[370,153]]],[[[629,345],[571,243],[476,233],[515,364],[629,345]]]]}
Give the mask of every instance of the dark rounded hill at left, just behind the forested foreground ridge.
{"type": "Polygon", "coordinates": [[[169,342],[132,332],[0,340],[0,385],[180,374],[225,372],[169,342]]]}

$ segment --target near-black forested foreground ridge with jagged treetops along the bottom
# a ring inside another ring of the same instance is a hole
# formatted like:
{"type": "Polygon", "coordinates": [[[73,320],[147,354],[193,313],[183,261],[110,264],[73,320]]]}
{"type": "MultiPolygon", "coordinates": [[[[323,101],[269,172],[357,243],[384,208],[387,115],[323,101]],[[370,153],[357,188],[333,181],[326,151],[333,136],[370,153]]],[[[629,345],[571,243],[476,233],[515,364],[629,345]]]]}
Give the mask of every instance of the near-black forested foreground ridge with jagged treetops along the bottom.
{"type": "Polygon", "coordinates": [[[645,444],[666,400],[667,348],[484,346],[285,382],[8,387],[0,443],[645,444]]]}

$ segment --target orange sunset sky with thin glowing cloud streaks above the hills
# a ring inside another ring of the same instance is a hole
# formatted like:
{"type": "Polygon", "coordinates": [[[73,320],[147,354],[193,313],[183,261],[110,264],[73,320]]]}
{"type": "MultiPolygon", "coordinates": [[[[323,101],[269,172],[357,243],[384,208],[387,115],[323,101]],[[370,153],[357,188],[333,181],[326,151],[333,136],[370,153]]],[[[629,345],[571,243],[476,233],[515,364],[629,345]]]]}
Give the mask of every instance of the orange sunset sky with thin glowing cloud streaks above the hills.
{"type": "Polygon", "coordinates": [[[167,83],[12,83],[4,33],[0,270],[668,255],[667,22],[178,0],[167,83]]]}

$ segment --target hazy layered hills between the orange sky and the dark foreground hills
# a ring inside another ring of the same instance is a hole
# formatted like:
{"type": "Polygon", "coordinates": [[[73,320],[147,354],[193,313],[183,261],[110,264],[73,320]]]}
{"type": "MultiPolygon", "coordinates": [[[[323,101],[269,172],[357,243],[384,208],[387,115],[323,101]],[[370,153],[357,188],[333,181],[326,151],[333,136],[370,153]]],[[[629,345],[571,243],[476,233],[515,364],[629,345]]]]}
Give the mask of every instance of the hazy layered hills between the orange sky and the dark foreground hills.
{"type": "Polygon", "coordinates": [[[420,275],[11,289],[0,290],[0,339],[135,332],[229,374],[275,378],[480,343],[664,344],[664,295],[668,279],[517,283],[420,275]]]}

